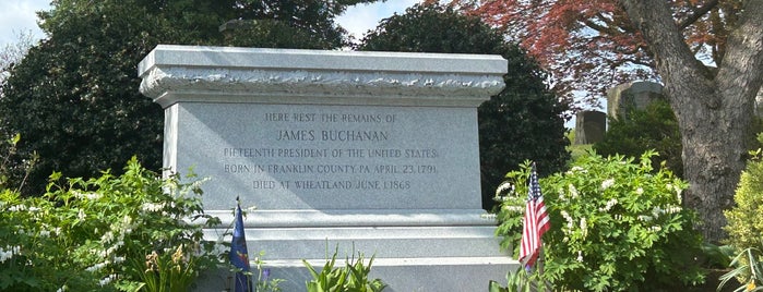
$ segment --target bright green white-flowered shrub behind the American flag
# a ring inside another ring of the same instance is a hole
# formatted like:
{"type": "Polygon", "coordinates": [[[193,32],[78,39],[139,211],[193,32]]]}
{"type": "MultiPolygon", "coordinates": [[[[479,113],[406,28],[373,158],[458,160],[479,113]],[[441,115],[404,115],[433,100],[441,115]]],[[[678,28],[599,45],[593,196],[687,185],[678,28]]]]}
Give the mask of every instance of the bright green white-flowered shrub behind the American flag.
{"type": "MultiPolygon", "coordinates": [[[[688,184],[665,169],[654,170],[645,153],[639,162],[591,154],[571,170],[541,179],[551,230],[544,236],[541,276],[559,290],[622,291],[699,283],[694,263],[702,240],[694,214],[681,208],[688,184]]],[[[515,186],[502,196],[498,219],[502,246],[513,248],[522,234],[529,163],[508,174],[515,186]]]]}

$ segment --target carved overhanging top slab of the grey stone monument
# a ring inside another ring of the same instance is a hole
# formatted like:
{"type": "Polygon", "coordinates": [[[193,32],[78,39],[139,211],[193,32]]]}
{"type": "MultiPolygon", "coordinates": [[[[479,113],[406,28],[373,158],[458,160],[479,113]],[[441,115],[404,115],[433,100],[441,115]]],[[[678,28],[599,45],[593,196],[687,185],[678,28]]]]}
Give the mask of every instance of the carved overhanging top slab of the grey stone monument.
{"type": "Polygon", "coordinates": [[[180,99],[272,98],[286,104],[476,107],[503,89],[506,70],[500,56],[487,54],[160,45],[140,63],[139,75],[141,93],[163,107],[180,99]]]}

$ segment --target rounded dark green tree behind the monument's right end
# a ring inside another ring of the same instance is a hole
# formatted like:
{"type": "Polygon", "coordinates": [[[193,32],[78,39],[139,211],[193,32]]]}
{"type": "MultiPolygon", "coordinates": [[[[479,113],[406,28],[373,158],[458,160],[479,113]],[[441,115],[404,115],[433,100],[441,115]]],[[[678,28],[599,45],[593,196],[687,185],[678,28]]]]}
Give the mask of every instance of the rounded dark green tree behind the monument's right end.
{"type": "Polygon", "coordinates": [[[403,15],[382,20],[369,32],[361,50],[501,54],[509,61],[506,87],[478,109],[482,204],[490,209],[505,173],[526,159],[541,174],[560,171],[570,154],[565,146],[567,105],[544,84],[546,73],[499,31],[474,16],[436,4],[414,5],[403,15]],[[443,29],[448,27],[448,29],[443,29]]]}

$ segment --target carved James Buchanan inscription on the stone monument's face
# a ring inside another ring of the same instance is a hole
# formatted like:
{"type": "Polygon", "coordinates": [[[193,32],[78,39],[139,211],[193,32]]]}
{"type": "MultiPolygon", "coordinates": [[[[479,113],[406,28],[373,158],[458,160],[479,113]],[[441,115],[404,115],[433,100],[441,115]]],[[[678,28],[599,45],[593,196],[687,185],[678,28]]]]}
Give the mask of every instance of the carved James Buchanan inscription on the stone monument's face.
{"type": "Polygon", "coordinates": [[[267,112],[255,119],[262,141],[219,151],[223,171],[247,178],[254,191],[409,190],[422,175],[437,174],[442,158],[440,149],[401,141],[396,113],[267,112]]]}

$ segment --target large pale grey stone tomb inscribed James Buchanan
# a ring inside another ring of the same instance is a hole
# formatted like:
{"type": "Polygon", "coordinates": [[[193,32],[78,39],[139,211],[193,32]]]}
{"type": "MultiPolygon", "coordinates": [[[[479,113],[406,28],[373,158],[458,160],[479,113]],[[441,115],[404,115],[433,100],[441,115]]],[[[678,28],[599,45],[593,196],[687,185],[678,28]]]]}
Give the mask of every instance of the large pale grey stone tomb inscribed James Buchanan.
{"type": "Polygon", "coordinates": [[[139,65],[165,108],[165,168],[210,179],[204,208],[223,226],[208,238],[236,197],[257,206],[250,259],[264,251],[286,291],[309,279],[300,259],[320,267],[337,245],[375,254],[385,291],[503,280],[516,263],[480,206],[476,109],[505,72],[498,56],[188,46],[139,65]]]}

